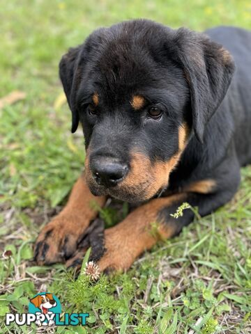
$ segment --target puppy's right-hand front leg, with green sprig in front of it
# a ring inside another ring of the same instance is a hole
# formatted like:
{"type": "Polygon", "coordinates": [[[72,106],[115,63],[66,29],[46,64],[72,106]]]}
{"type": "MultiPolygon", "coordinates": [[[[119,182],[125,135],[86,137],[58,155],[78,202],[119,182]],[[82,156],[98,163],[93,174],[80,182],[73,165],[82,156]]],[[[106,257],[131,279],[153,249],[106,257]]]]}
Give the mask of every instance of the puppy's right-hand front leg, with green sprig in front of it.
{"type": "MultiPolygon", "coordinates": [[[[100,271],[126,270],[144,250],[150,249],[158,240],[181,232],[183,226],[190,224],[195,216],[192,209],[185,209],[183,216],[178,218],[171,216],[183,202],[198,207],[199,214],[206,216],[228,202],[235,192],[226,190],[204,193],[207,191],[204,182],[192,185],[191,191],[195,190],[203,193],[184,192],[151,200],[131,212],[118,225],[105,230],[105,253],[98,260],[100,271]]],[[[79,258],[82,256],[79,252],[79,258]]],[[[75,261],[76,258],[77,255],[75,261]]]]}

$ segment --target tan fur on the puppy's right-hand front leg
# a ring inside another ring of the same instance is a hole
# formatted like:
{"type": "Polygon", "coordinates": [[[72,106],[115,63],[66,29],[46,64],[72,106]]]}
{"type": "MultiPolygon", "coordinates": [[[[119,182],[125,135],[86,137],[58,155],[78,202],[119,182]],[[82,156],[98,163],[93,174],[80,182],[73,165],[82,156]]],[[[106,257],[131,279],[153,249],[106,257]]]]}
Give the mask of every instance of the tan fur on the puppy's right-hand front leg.
{"type": "Polygon", "coordinates": [[[132,262],[158,240],[172,237],[175,226],[163,223],[158,213],[176,201],[185,200],[185,194],[158,198],[131,212],[121,223],[105,230],[107,252],[98,262],[100,270],[128,269],[132,262]]]}

